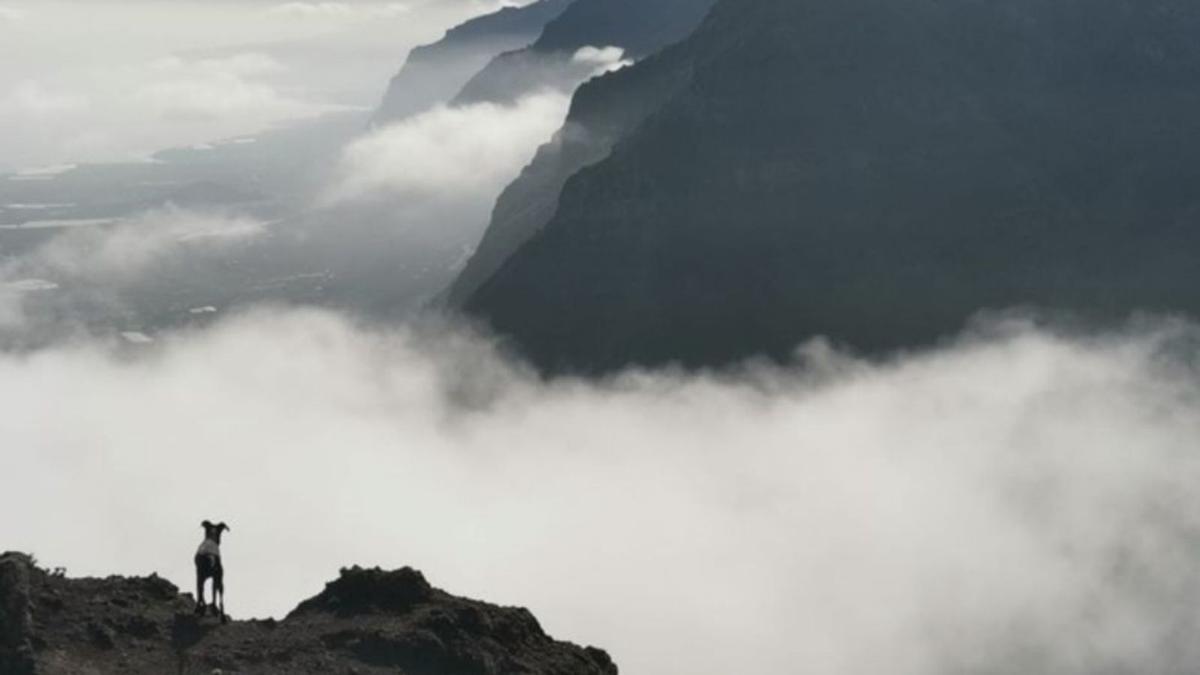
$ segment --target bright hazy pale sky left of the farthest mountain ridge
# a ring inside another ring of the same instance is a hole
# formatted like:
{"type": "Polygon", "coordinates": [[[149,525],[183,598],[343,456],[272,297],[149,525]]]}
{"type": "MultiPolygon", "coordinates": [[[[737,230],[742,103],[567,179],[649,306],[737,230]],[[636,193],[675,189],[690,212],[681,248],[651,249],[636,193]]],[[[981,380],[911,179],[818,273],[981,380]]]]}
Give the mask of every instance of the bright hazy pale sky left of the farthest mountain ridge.
{"type": "Polygon", "coordinates": [[[0,171],[370,108],[410,47],[500,4],[0,0],[0,171]]]}

